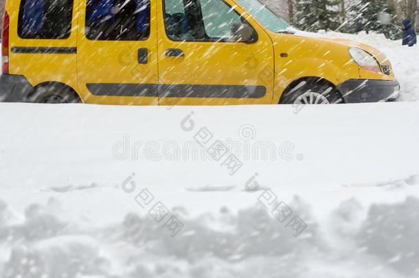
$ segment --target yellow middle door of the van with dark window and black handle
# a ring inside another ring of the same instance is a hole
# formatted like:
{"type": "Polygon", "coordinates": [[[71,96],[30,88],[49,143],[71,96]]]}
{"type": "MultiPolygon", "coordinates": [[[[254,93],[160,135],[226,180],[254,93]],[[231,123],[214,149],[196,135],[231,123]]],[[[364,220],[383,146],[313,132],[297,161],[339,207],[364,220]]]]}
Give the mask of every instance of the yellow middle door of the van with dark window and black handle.
{"type": "Polygon", "coordinates": [[[157,105],[155,1],[80,3],[77,74],[84,102],[157,105]]]}

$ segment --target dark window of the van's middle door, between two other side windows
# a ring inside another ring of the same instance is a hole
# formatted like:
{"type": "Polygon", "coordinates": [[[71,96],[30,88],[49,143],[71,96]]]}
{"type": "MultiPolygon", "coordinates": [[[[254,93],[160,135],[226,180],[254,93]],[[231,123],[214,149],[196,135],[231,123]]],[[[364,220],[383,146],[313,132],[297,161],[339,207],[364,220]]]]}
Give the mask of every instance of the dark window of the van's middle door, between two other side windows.
{"type": "Polygon", "coordinates": [[[87,0],[89,40],[146,40],[150,36],[150,0],[87,0]]]}

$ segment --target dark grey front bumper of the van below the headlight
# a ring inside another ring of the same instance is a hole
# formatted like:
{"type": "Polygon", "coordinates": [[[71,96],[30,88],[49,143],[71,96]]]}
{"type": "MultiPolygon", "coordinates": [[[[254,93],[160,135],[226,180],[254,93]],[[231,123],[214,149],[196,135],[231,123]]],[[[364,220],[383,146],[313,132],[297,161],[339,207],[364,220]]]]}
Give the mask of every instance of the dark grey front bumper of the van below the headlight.
{"type": "Polygon", "coordinates": [[[345,103],[389,102],[396,100],[400,94],[397,80],[351,79],[337,86],[337,89],[345,103]]]}

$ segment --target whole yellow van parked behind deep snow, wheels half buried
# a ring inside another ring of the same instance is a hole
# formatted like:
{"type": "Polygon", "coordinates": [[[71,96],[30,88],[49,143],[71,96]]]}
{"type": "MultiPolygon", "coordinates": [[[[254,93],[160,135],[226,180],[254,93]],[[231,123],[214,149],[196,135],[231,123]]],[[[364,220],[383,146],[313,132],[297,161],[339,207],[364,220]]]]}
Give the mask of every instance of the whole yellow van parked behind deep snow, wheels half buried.
{"type": "Polygon", "coordinates": [[[6,0],[0,101],[394,100],[377,49],[299,32],[258,0],[6,0]]]}

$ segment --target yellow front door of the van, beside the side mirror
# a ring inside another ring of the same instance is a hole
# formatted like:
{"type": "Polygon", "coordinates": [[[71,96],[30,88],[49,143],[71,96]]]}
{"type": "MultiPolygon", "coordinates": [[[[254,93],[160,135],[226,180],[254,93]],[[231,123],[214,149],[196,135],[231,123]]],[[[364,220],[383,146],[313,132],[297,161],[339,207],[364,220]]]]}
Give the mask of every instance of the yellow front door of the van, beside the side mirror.
{"type": "Polygon", "coordinates": [[[223,0],[157,0],[159,104],[270,104],[273,44],[245,11],[223,0]],[[251,40],[236,40],[242,26],[251,40]]]}

